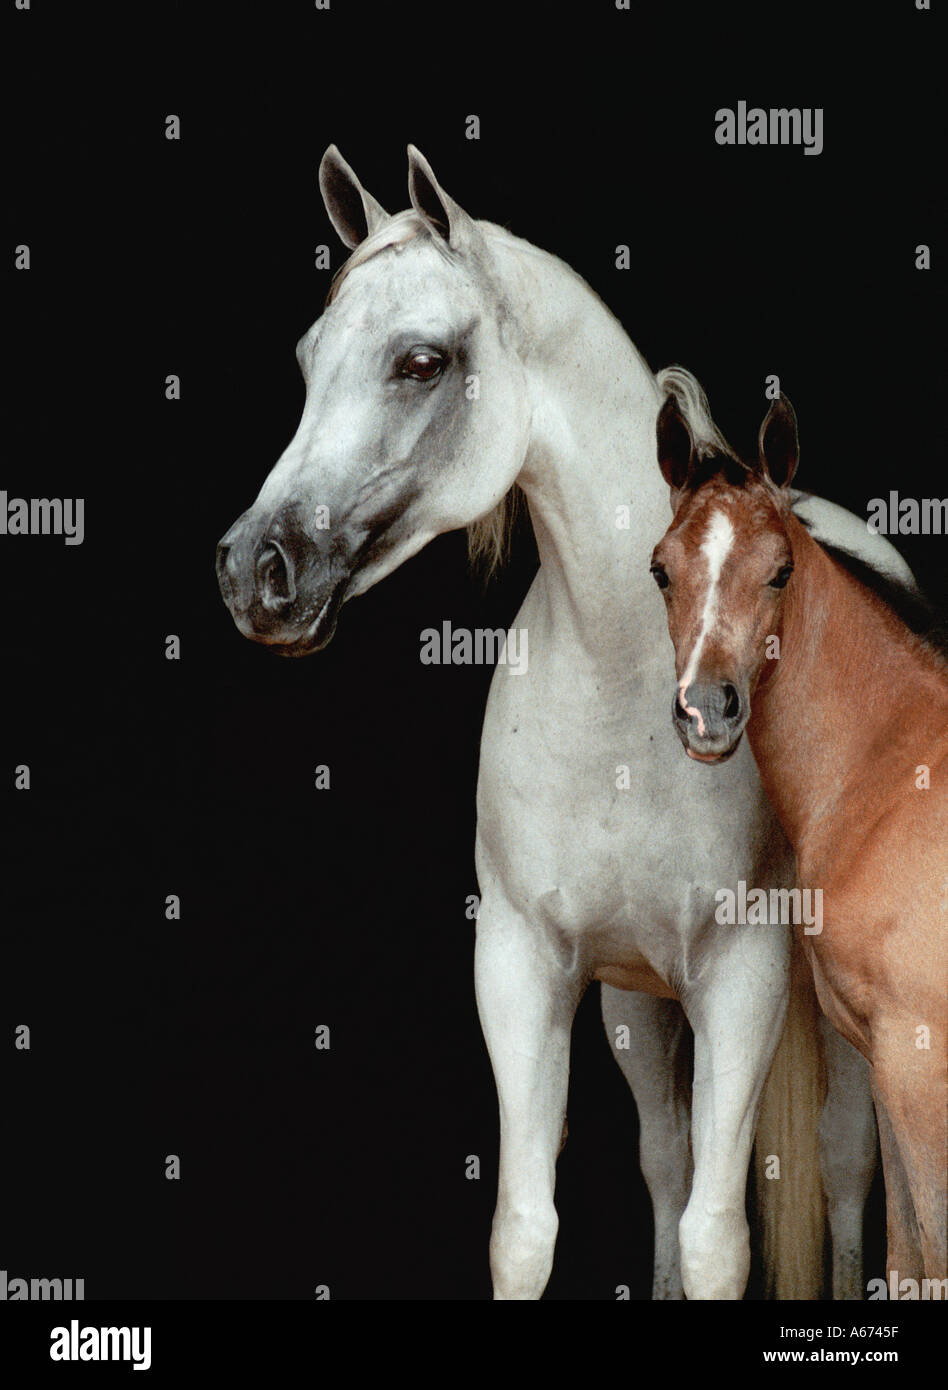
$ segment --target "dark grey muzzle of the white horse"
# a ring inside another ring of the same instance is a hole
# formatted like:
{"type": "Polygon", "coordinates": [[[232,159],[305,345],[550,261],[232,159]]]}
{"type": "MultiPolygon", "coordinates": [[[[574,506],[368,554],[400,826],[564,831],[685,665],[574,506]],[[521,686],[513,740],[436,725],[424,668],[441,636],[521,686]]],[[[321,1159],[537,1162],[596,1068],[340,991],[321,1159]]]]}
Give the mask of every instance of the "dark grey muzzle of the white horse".
{"type": "Polygon", "coordinates": [[[240,632],[282,656],[306,656],[329,641],[349,569],[327,539],[309,535],[292,510],[253,507],[217,546],[217,582],[240,632]]]}

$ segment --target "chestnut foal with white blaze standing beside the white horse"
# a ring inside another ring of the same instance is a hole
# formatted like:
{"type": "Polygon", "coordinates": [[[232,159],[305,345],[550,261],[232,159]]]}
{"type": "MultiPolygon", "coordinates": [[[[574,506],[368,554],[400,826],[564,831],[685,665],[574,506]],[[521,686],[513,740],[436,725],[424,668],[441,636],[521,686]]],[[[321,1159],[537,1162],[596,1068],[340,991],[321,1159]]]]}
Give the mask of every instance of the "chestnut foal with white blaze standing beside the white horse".
{"type": "Polygon", "coordinates": [[[791,512],[785,396],[753,467],[698,459],[673,398],[657,453],[674,507],[652,555],[676,652],[674,727],[702,763],[730,758],[748,730],[799,885],[823,891],[823,930],[802,937],[820,1006],[873,1068],[888,1268],[941,1280],[948,660],[791,512]]]}

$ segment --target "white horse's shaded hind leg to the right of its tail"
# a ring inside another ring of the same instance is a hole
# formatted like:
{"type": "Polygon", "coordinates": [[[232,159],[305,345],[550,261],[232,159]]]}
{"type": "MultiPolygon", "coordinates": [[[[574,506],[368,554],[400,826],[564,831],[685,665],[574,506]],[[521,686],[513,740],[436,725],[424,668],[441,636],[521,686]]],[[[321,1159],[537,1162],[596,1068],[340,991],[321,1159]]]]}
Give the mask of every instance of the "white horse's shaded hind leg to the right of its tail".
{"type": "Polygon", "coordinates": [[[833,1240],[833,1297],[863,1297],[862,1215],[876,1172],[876,1119],[869,1062],[820,1015],[826,1104],[820,1172],[833,1240]]]}

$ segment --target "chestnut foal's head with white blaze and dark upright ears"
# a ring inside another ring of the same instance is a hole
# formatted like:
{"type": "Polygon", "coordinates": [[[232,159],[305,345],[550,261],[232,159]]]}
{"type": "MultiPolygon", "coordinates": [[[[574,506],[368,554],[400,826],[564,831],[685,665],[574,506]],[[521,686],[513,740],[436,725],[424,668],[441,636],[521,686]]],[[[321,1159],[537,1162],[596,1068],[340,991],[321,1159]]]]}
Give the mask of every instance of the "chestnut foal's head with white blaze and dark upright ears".
{"type": "Polygon", "coordinates": [[[674,642],[673,720],[689,758],[719,763],[734,752],[751,696],[777,632],[794,555],[787,534],[796,471],[796,417],[781,396],[749,467],[726,455],[698,457],[670,396],[659,413],[657,453],[674,520],[652,552],[674,642]]]}

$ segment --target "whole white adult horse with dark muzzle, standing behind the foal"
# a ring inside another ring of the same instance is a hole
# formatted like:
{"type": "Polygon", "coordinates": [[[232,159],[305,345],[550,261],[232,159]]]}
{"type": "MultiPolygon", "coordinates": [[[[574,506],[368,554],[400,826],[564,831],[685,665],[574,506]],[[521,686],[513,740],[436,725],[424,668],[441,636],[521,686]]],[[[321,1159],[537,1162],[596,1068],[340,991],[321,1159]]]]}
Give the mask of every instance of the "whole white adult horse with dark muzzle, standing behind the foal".
{"type": "MultiPolygon", "coordinates": [[[[505,499],[514,484],[527,496],[539,570],[516,627],[530,635],[528,673],[496,667],[477,791],[475,987],[500,1108],[495,1297],[538,1298],[549,1277],[570,1031],[591,980],[639,1108],[660,1298],[744,1293],[746,1169],[791,995],[796,1024],[759,1136],[781,1176],[760,1184],[760,1204],[777,1295],[816,1297],[810,997],[802,976],[788,991],[787,929],[714,920],[717,888],[788,884],[792,863],[746,746],[723,769],[678,755],[649,575],[670,516],[656,416],[674,391],[709,448],[703,395],[680,368],[656,379],[578,275],[473,221],[414,147],[409,211],[389,217],[335,147],[320,185],[353,254],[297,346],[296,436],[221,541],[218,577],[245,635],[306,655],[329,641],[345,599],[439,532],[473,527],[475,550],[499,550],[505,499]]],[[[817,499],[799,510],[826,539],[904,573],[849,513],[817,499]]],[[[862,1061],[827,1041],[834,1291],[859,1297],[874,1127],[862,1061]]]]}

